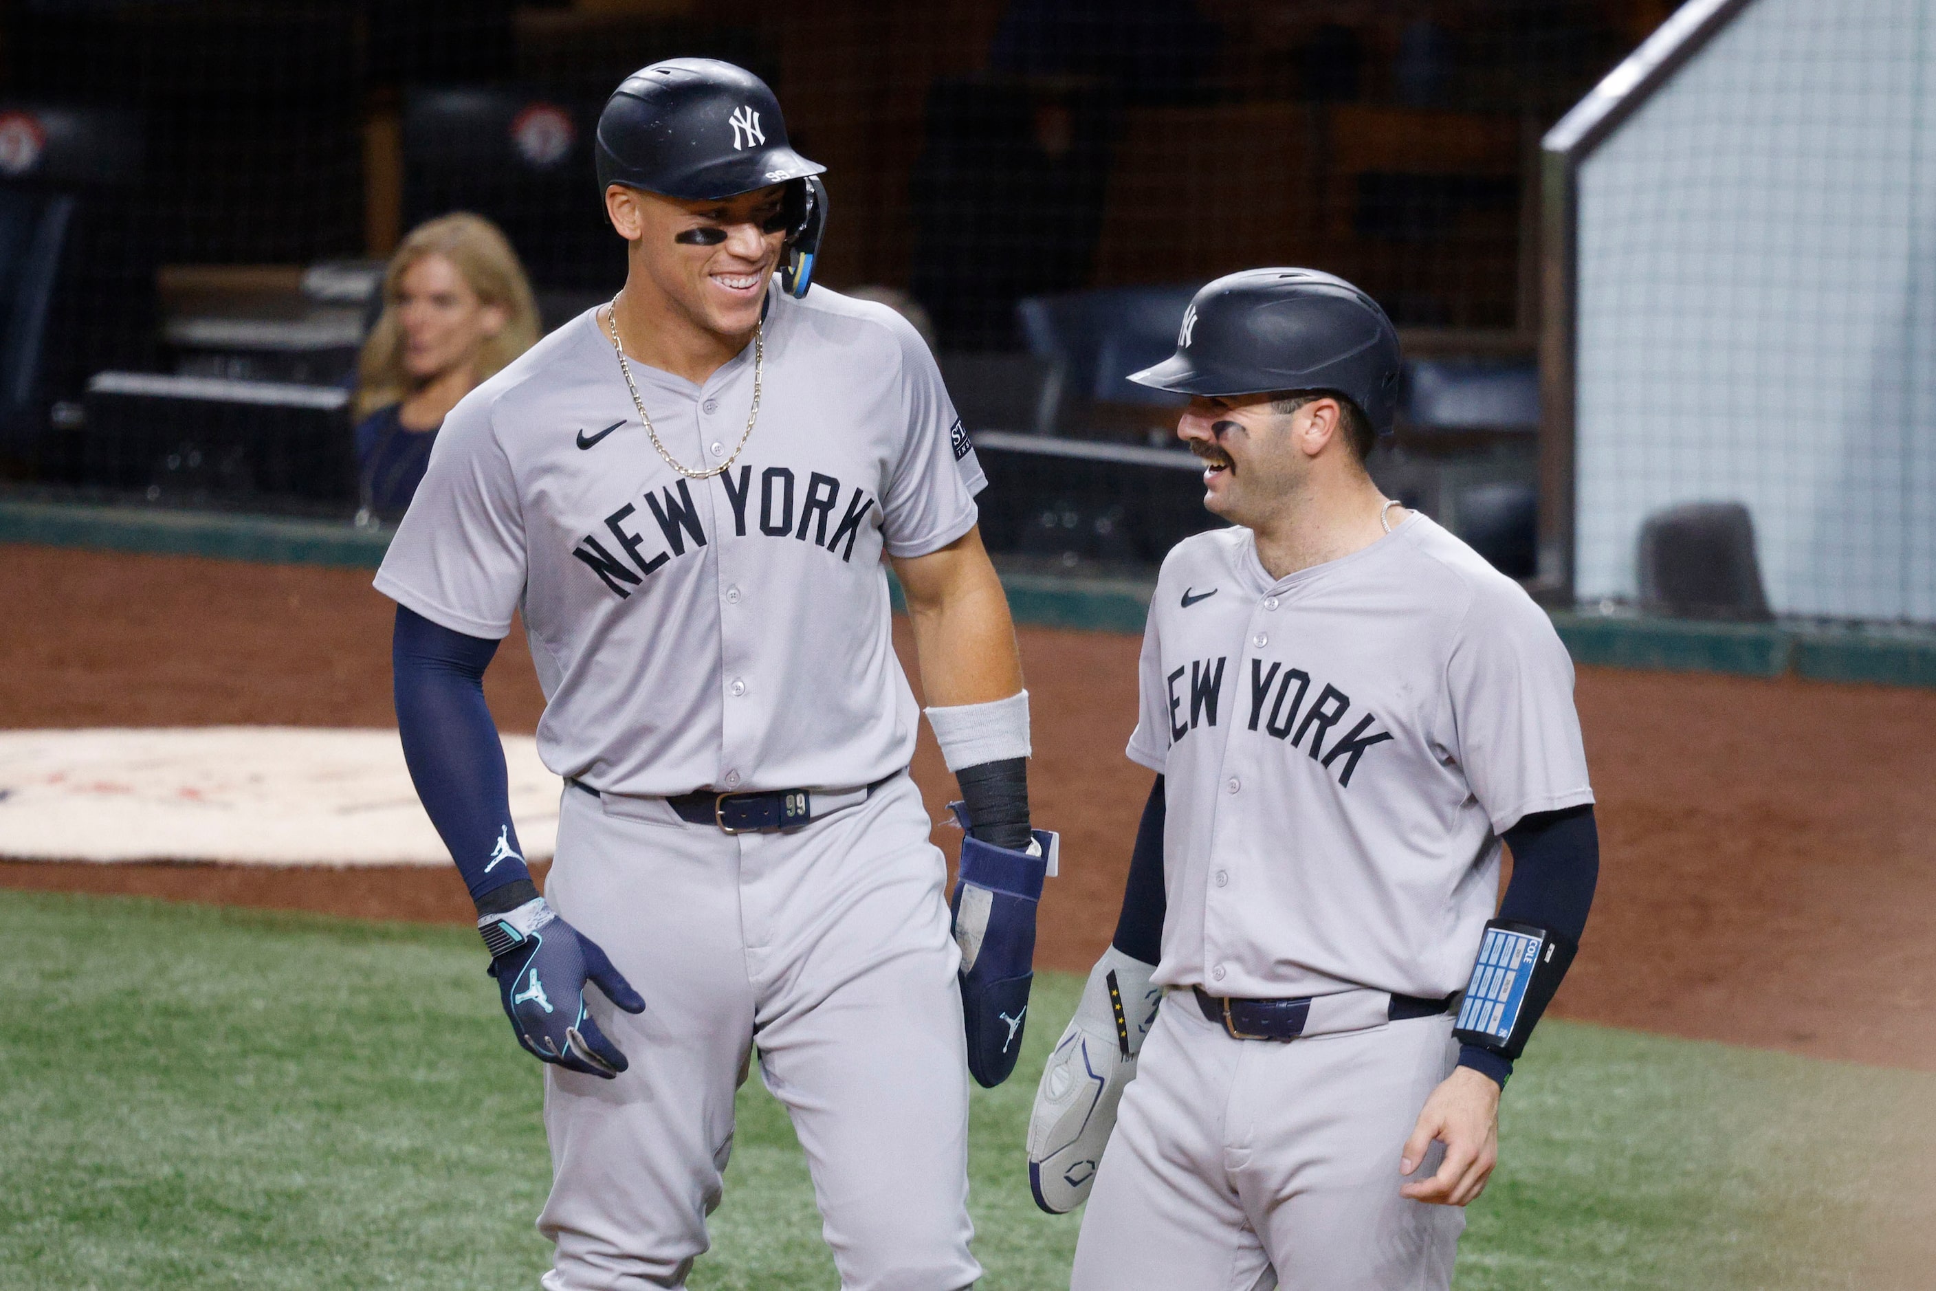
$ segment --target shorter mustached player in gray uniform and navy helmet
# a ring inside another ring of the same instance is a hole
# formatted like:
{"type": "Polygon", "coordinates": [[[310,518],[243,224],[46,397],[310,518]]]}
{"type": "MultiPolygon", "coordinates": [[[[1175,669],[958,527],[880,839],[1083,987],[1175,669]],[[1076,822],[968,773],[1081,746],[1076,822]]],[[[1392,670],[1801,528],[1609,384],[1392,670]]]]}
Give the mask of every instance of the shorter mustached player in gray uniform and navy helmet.
{"type": "Polygon", "coordinates": [[[1398,375],[1361,290],[1255,269],[1133,377],[1191,397],[1177,434],[1231,526],[1156,583],[1129,757],[1158,780],[1036,1096],[1036,1200],[1088,1198],[1076,1291],[1448,1287],[1586,925],[1572,664],[1365,472],[1398,375]]]}

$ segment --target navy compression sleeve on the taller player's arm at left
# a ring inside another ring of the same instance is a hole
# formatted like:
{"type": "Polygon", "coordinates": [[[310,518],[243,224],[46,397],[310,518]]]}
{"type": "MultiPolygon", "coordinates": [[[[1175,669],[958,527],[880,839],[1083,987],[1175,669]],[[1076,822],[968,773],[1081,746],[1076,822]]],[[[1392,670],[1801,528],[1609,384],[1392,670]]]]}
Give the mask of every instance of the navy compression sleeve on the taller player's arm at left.
{"type": "Polygon", "coordinates": [[[496,652],[496,641],[397,606],[389,658],[403,761],[480,914],[538,894],[517,846],[503,745],[484,703],[484,668],[496,652]]]}

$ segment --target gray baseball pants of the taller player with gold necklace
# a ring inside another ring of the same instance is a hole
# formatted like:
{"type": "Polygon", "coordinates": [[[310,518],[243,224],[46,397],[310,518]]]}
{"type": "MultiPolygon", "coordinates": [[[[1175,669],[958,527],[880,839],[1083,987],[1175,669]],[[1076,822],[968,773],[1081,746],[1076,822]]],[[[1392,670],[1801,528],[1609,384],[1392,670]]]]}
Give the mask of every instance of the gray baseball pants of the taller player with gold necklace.
{"type": "Polygon", "coordinates": [[[753,1045],[807,1154],[850,1291],[958,1291],[968,1066],[945,861],[908,776],[790,832],[724,834],[660,799],[565,790],[546,898],[647,1006],[594,987],[631,1066],[544,1068],[548,1291],[681,1287],[707,1250],[753,1045]]]}

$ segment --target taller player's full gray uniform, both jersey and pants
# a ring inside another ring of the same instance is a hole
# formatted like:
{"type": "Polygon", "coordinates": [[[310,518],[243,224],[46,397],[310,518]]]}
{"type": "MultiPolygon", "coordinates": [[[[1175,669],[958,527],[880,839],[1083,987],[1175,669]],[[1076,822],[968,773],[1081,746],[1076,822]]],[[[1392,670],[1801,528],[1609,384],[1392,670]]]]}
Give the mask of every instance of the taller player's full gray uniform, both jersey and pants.
{"type": "MultiPolygon", "coordinates": [[[[565,790],[546,896],[647,999],[621,1022],[587,995],[631,1059],[621,1076],[544,1068],[546,1287],[683,1285],[755,1028],[842,1285],[980,1272],[960,952],[920,792],[892,774],[918,710],[881,554],[968,532],[982,470],[896,314],[827,288],[767,300],[759,422],[722,476],[660,459],[585,314],[457,405],[378,575],[472,637],[523,612],[538,751],[596,790],[565,790]],[[664,801],[883,778],[786,832],[726,834],[664,801]]],[[[703,385],[633,375],[668,453],[732,455],[753,346],[703,385]]]]}

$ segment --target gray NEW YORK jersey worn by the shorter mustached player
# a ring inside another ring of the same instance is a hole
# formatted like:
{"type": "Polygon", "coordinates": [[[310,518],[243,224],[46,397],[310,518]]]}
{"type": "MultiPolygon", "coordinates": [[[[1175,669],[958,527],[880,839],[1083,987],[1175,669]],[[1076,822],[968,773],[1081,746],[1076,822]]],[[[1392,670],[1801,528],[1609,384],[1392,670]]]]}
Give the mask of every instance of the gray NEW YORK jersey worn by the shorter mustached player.
{"type": "Polygon", "coordinates": [[[1423,515],[1286,579],[1247,528],[1181,542],[1129,741],[1167,786],[1156,981],[1462,989],[1498,834],[1593,801],[1572,681],[1531,598],[1423,515]]]}

